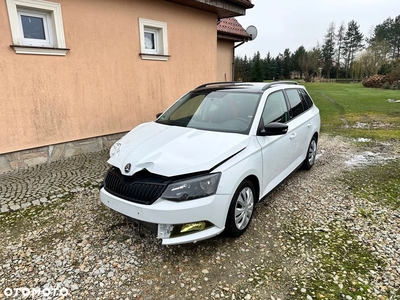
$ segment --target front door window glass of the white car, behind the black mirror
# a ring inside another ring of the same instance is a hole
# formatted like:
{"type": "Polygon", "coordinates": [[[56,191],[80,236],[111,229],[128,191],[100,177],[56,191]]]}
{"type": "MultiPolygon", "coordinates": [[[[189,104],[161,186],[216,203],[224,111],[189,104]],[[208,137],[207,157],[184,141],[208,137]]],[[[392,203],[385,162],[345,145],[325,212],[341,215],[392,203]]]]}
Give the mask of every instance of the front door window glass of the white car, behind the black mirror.
{"type": "Polygon", "coordinates": [[[262,114],[264,126],[271,122],[286,123],[288,120],[289,113],[283,92],[278,91],[270,94],[262,114]]]}

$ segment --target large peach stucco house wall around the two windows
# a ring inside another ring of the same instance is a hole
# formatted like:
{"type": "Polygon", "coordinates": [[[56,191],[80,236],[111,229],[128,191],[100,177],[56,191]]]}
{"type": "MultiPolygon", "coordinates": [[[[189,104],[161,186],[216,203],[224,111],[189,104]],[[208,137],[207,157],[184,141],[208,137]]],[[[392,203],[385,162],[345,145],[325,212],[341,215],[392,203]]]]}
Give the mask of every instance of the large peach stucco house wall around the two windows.
{"type": "Polygon", "coordinates": [[[16,54],[0,0],[0,154],[130,130],[217,79],[213,14],[157,0],[57,2],[65,57],[16,54]],[[140,58],[138,18],[167,23],[167,62],[140,58]]]}

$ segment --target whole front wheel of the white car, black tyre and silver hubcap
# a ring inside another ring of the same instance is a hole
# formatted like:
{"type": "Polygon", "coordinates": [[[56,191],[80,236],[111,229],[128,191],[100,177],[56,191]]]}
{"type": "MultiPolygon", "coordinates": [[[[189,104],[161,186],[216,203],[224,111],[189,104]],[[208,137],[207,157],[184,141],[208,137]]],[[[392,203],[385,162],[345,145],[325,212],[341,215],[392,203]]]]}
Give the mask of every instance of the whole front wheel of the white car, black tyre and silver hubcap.
{"type": "Polygon", "coordinates": [[[255,200],[254,185],[251,181],[243,181],[229,206],[225,223],[225,233],[232,237],[238,237],[248,228],[253,217],[255,200]]]}

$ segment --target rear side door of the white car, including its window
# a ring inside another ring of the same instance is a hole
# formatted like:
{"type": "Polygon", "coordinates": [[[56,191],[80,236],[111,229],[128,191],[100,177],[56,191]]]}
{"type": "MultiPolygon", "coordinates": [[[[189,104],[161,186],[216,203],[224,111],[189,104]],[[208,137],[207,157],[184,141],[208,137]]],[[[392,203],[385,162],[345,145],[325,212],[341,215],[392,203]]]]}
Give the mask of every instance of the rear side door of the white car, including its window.
{"type": "MultiPolygon", "coordinates": [[[[313,117],[314,112],[310,103],[302,95],[303,90],[298,88],[286,89],[285,93],[291,107],[291,116],[294,123],[294,161],[301,164],[306,157],[308,144],[314,134],[313,117]]],[[[311,98],[309,99],[311,104],[311,98]]]]}

